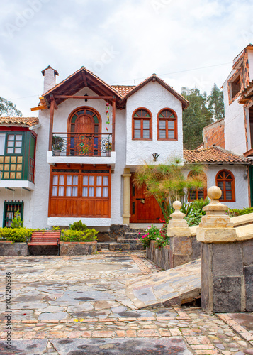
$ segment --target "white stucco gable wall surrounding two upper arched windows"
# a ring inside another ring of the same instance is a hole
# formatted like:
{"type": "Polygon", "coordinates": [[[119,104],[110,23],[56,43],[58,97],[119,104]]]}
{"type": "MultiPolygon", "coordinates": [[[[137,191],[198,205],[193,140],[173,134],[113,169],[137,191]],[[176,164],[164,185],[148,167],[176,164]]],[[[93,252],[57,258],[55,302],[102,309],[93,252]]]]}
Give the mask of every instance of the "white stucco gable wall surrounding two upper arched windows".
{"type": "Polygon", "coordinates": [[[158,163],[166,163],[169,156],[183,155],[182,105],[179,99],[164,89],[157,82],[149,82],[129,97],[126,104],[127,157],[126,165],[130,168],[151,162],[152,153],[158,153],[158,163]],[[143,107],[152,113],[152,141],[135,141],[132,139],[132,115],[135,109],[143,107]],[[176,111],[178,119],[178,140],[157,141],[157,114],[163,108],[176,111]]]}

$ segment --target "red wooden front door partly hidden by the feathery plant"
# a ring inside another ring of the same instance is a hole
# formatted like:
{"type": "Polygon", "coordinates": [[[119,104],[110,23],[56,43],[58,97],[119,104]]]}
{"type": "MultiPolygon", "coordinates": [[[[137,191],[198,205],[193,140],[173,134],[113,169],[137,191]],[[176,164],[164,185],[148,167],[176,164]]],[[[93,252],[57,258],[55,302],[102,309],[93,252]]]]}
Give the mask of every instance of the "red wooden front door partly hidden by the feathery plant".
{"type": "Polygon", "coordinates": [[[153,196],[147,197],[146,187],[136,187],[130,180],[130,223],[159,223],[163,218],[162,209],[153,196]]]}

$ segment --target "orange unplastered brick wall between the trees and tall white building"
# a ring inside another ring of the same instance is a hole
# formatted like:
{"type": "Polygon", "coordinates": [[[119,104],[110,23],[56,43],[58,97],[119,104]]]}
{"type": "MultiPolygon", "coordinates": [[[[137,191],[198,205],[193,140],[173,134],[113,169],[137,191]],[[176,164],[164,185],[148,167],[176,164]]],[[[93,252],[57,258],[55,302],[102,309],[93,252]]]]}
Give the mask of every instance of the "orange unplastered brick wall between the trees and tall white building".
{"type": "Polygon", "coordinates": [[[203,142],[204,148],[212,147],[213,144],[225,148],[224,119],[203,128],[203,142]]]}

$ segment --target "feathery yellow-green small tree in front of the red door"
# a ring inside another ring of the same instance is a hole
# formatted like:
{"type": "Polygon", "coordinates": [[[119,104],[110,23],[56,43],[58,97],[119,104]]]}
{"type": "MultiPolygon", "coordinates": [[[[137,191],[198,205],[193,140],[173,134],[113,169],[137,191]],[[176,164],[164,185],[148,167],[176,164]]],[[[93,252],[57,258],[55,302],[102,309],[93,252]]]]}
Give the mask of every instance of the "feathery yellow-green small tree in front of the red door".
{"type": "Polygon", "coordinates": [[[187,165],[191,169],[191,175],[184,177],[183,170],[186,167],[180,158],[172,158],[168,165],[141,165],[137,168],[134,183],[137,187],[146,185],[146,195],[153,195],[162,209],[164,218],[169,220],[170,214],[174,211],[172,204],[180,200],[184,204],[187,214],[188,193],[191,189],[203,188],[206,186],[206,179],[203,175],[203,165],[187,165]]]}

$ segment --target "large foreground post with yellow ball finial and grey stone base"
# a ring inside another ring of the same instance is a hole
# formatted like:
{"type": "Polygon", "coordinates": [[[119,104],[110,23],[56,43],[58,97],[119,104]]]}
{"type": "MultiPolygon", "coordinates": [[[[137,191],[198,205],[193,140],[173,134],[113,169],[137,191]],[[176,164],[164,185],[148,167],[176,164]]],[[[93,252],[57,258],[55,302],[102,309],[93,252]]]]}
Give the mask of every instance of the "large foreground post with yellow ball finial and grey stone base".
{"type": "Polygon", "coordinates": [[[210,204],[197,229],[201,245],[201,307],[208,313],[241,312],[244,304],[242,246],[227,206],[219,202],[221,190],[208,190],[210,204]]]}

